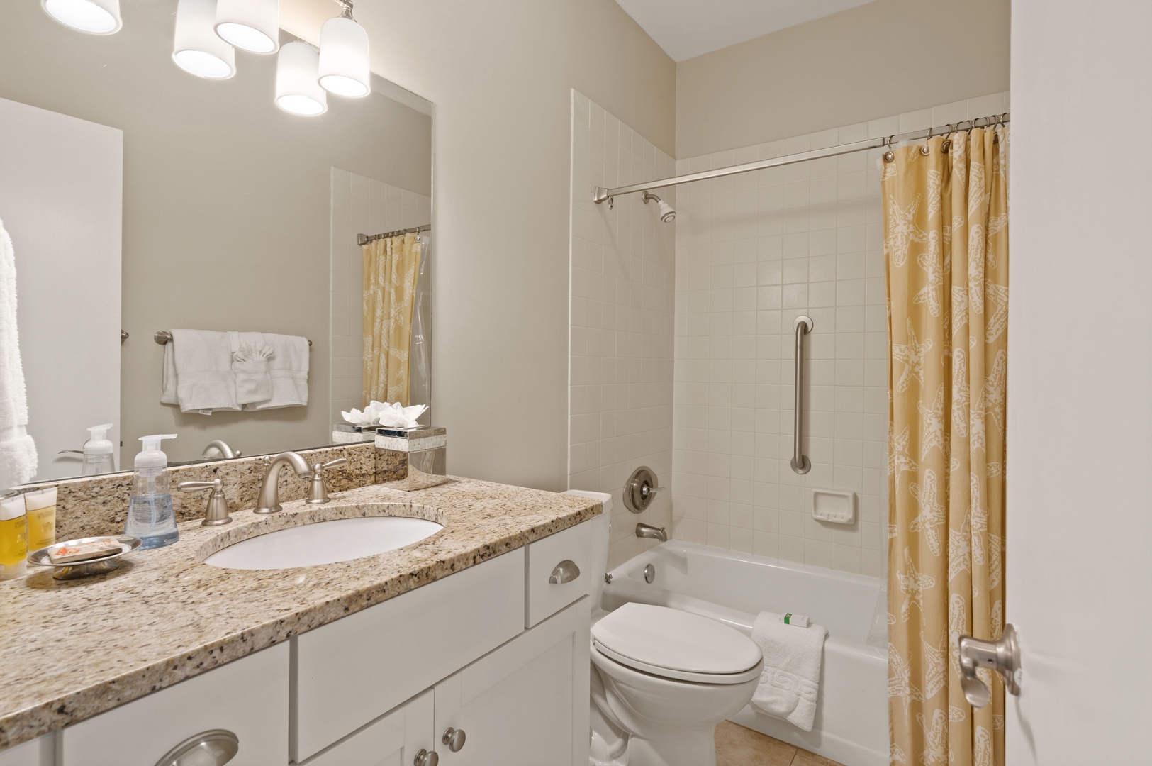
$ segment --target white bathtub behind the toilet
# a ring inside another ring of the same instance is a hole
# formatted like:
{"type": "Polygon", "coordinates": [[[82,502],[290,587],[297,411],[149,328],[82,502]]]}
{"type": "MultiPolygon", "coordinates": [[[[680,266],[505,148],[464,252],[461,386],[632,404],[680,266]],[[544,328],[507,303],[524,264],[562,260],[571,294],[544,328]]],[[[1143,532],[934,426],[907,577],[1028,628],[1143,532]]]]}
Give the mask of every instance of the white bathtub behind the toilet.
{"type": "Polygon", "coordinates": [[[802,731],[751,705],[733,721],[847,766],[888,764],[884,581],[669,540],[612,570],[602,606],[628,601],[695,612],[752,635],[757,613],[806,614],[827,628],[816,723],[802,731]],[[644,582],[652,564],[655,577],[644,582]]]}

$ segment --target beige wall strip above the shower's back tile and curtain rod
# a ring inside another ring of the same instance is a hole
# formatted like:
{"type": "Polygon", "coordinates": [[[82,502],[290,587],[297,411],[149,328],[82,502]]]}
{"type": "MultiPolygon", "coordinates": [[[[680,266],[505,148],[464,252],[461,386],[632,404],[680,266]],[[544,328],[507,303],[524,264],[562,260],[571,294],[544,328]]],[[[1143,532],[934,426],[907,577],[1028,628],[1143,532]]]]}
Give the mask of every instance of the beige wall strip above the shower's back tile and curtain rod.
{"type": "Polygon", "coordinates": [[[676,66],[676,156],[1008,90],[1009,0],[876,0],[676,66]]]}

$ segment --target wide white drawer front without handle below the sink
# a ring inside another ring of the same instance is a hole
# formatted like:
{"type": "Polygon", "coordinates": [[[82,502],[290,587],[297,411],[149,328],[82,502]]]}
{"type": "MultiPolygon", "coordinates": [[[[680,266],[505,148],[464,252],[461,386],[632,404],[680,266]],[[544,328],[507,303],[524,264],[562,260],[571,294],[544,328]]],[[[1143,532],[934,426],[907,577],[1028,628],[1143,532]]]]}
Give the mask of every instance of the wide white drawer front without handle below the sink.
{"type": "Polygon", "coordinates": [[[310,758],[523,629],[518,548],[293,638],[293,760],[310,758]]]}

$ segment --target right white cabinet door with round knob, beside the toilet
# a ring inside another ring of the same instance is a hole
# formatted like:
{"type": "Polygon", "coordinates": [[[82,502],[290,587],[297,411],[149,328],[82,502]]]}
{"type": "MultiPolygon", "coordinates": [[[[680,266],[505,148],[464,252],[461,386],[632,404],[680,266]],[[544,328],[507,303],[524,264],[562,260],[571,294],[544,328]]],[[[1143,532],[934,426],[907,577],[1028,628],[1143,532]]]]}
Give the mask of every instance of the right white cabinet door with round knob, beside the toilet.
{"type": "Polygon", "coordinates": [[[440,766],[586,766],[589,622],[584,597],[437,684],[440,766]]]}

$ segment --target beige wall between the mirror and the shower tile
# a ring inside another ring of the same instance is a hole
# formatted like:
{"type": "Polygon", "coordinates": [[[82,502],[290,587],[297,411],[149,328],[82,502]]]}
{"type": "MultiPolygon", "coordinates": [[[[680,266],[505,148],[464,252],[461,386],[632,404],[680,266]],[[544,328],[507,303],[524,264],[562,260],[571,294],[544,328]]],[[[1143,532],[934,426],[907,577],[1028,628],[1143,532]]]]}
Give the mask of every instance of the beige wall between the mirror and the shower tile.
{"type": "MultiPolygon", "coordinates": [[[[314,36],[329,2],[283,3],[314,36]]],[[[613,0],[357,3],[373,70],[434,106],[432,401],[454,473],[561,490],[570,89],[673,153],[675,65],[613,0]]]]}

